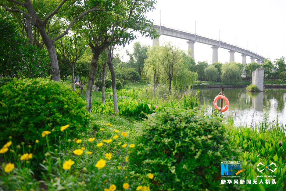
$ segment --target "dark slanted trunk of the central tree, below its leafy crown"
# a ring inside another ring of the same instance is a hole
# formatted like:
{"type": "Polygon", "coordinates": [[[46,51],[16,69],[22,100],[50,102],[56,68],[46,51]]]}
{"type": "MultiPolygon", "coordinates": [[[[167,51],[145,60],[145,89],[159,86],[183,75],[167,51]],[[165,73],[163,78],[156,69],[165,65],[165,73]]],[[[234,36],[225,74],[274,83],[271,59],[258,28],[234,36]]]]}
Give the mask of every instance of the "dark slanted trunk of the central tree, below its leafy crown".
{"type": "Polygon", "coordinates": [[[92,108],[92,86],[93,86],[93,82],[94,82],[95,72],[96,72],[96,69],[98,66],[99,55],[100,55],[99,52],[93,53],[93,56],[91,59],[91,64],[90,64],[90,70],[89,70],[89,74],[88,74],[88,84],[86,87],[85,99],[86,99],[86,102],[88,102],[88,105],[87,105],[88,109],[87,110],[89,113],[91,113],[91,108],[92,108]]]}

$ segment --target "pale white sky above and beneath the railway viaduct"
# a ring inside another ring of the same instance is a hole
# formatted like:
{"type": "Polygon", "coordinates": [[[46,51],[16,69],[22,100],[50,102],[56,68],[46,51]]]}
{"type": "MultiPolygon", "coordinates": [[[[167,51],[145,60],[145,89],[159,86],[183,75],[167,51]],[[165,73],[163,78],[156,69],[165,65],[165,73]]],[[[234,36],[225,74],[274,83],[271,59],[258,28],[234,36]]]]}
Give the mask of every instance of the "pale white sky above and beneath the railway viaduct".
{"type": "MultiPolygon", "coordinates": [[[[237,44],[263,54],[263,57],[271,57],[272,60],[286,56],[286,0],[158,0],[156,10],[149,12],[147,18],[153,19],[155,24],[170,26],[179,30],[189,31],[198,35],[217,38],[231,44],[237,44]],[[196,23],[196,27],[195,27],[196,23]],[[219,36],[220,31],[220,36],[219,36]],[[237,40],[236,40],[237,39],[237,40]],[[257,47],[256,47],[257,46],[257,47]]],[[[138,34],[140,36],[140,34],[138,34]]],[[[160,36],[160,42],[172,41],[181,49],[188,50],[186,40],[160,36]]],[[[150,38],[139,37],[125,49],[132,50],[134,42],[152,46],[150,38]]],[[[195,43],[195,61],[212,61],[212,49],[210,45],[195,43]]],[[[241,54],[235,53],[235,61],[241,62],[241,54]]],[[[250,57],[246,57],[247,63],[250,57]]],[[[228,50],[218,49],[218,60],[229,61],[228,50]]]]}

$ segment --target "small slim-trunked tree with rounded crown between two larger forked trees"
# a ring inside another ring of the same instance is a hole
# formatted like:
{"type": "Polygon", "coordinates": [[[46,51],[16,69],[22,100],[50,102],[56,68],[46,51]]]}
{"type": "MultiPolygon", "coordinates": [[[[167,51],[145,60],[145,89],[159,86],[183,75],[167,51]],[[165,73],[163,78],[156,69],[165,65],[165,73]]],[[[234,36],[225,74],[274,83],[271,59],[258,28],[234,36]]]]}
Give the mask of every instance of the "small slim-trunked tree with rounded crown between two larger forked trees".
{"type": "Polygon", "coordinates": [[[70,66],[74,92],[74,66],[77,64],[79,57],[84,53],[86,42],[80,36],[73,34],[61,38],[60,43],[56,43],[56,47],[65,63],[70,66]]]}

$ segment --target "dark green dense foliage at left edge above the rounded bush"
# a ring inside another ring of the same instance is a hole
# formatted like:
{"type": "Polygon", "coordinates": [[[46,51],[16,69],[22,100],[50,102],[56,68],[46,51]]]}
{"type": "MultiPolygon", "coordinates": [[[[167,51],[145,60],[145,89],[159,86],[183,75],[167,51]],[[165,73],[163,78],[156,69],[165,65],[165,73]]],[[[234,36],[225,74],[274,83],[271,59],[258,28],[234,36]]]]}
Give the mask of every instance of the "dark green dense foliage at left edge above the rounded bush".
{"type": "Polygon", "coordinates": [[[50,64],[45,50],[29,45],[16,28],[13,19],[0,14],[0,74],[17,78],[47,77],[50,64]]]}

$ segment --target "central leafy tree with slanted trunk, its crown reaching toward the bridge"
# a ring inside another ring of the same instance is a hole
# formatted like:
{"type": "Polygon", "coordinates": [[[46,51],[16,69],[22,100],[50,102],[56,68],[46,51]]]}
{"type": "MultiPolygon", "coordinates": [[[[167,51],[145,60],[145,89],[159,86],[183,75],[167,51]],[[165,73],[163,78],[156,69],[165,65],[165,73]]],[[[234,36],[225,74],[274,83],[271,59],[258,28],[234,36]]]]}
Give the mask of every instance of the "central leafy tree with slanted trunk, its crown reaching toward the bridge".
{"type": "Polygon", "coordinates": [[[99,8],[106,9],[106,11],[91,12],[80,19],[78,31],[88,38],[88,45],[93,53],[86,90],[89,112],[92,108],[92,84],[98,67],[99,55],[110,45],[124,46],[134,40],[136,38],[134,31],[139,31],[142,36],[156,37],[156,31],[151,27],[153,23],[145,17],[146,12],[154,9],[154,4],[155,1],[149,0],[105,1],[99,8]]]}

